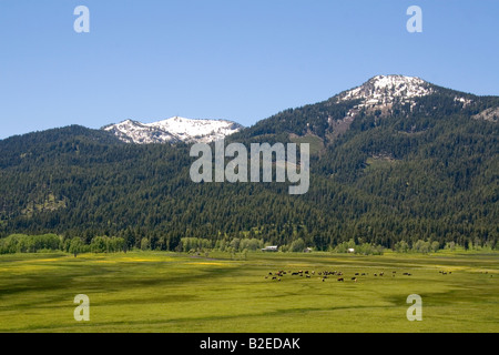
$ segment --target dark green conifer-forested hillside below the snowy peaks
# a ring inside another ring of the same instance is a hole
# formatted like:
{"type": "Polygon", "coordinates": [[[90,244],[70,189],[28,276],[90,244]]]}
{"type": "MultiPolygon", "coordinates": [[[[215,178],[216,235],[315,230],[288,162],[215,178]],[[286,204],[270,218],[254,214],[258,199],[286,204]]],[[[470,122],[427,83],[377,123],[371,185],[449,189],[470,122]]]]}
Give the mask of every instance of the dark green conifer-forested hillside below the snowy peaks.
{"type": "Polygon", "coordinates": [[[498,98],[435,87],[383,106],[360,99],[289,109],[226,141],[307,142],[310,187],[191,181],[190,145],[125,144],[68,126],[0,141],[0,233],[143,239],[257,237],[326,250],[354,239],[394,247],[417,240],[497,245],[498,98]],[[457,99],[458,98],[458,99],[457,99]],[[488,110],[488,111],[487,111],[488,110]],[[480,115],[481,114],[481,115],[480,115]]]}

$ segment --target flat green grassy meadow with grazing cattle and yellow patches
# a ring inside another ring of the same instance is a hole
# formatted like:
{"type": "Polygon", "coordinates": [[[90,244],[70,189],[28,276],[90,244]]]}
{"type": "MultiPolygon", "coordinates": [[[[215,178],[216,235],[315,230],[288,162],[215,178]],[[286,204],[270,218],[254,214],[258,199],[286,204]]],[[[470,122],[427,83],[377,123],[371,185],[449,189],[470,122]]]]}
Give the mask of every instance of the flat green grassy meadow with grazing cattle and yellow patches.
{"type": "Polygon", "coordinates": [[[471,252],[1,255],[0,332],[496,333],[498,261],[471,252]],[[315,275],[288,273],[299,270],[315,275]],[[277,271],[281,281],[268,276],[277,271]],[[345,282],[323,282],[323,271],[345,282]],[[354,282],[355,273],[366,275],[354,282]],[[89,322],[73,317],[78,294],[90,298],[89,322]],[[406,317],[410,294],[422,298],[420,322],[406,317]]]}

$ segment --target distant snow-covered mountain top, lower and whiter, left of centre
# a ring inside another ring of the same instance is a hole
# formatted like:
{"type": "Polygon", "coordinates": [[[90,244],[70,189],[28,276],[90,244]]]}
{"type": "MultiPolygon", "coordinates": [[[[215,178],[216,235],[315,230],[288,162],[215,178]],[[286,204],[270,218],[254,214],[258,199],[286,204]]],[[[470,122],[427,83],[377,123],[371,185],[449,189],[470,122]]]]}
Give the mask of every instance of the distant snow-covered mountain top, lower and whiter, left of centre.
{"type": "Polygon", "coordinates": [[[226,120],[193,120],[174,116],[152,123],[126,120],[102,129],[114,133],[124,142],[147,144],[175,142],[208,143],[238,132],[242,128],[241,124],[226,120]]]}

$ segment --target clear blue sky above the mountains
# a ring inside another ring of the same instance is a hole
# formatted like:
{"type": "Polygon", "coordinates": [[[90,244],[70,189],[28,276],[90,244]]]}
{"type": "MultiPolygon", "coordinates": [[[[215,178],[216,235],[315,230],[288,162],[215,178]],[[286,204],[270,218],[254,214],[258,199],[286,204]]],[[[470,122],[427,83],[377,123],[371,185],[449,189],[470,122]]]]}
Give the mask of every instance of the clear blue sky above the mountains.
{"type": "Polygon", "coordinates": [[[499,1],[0,0],[0,139],[173,115],[243,125],[377,74],[499,95],[499,1]],[[78,6],[90,33],[77,33],[78,6]],[[409,33],[409,6],[422,33],[409,33]]]}

